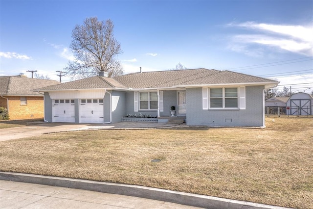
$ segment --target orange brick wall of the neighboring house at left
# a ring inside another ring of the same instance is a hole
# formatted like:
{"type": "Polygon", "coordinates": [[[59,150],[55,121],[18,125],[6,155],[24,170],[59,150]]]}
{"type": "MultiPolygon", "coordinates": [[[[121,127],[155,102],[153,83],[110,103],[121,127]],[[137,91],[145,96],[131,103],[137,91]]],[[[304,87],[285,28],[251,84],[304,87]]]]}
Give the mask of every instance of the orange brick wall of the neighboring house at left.
{"type": "Polygon", "coordinates": [[[10,120],[44,118],[44,97],[27,97],[26,105],[21,105],[19,96],[7,96],[7,98],[10,120]]]}

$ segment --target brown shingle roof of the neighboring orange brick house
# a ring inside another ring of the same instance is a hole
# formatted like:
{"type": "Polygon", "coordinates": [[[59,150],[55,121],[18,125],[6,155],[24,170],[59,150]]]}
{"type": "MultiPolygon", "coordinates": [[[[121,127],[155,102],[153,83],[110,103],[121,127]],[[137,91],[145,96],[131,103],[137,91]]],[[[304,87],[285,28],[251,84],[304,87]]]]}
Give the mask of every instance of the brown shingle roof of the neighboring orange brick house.
{"type": "Polygon", "coordinates": [[[55,84],[60,84],[60,82],[48,79],[27,78],[24,76],[3,76],[0,77],[0,95],[43,96],[32,90],[55,84]]]}

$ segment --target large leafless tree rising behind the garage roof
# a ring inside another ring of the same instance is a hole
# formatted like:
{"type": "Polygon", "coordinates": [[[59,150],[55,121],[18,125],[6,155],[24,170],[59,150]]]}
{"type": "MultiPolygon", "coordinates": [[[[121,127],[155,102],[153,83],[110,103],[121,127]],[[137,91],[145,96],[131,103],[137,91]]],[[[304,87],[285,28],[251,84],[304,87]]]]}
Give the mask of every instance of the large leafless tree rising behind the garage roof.
{"type": "Polygon", "coordinates": [[[109,77],[123,75],[123,67],[117,59],[122,53],[119,42],[113,36],[112,20],[98,21],[97,17],[84,20],[72,30],[70,49],[75,61],[69,61],[64,68],[72,79],[88,78],[100,71],[109,77]]]}

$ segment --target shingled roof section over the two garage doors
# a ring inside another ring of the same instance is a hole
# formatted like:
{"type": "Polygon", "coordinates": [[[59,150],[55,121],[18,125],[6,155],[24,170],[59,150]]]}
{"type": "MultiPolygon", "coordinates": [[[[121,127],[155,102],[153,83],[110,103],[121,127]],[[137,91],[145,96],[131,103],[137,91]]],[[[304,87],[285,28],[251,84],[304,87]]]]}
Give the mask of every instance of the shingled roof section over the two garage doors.
{"type": "Polygon", "coordinates": [[[128,88],[128,87],[119,83],[114,78],[95,76],[80,80],[74,80],[66,83],[61,83],[53,86],[47,86],[35,90],[45,91],[45,90],[74,90],[74,89],[99,89],[99,88],[128,88]]]}

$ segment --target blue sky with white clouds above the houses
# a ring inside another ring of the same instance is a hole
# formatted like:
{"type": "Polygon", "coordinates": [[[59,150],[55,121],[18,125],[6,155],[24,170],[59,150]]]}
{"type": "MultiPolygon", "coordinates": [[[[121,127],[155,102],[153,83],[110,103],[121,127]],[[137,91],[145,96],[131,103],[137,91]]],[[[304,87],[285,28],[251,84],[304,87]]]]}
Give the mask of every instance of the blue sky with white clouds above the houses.
{"type": "Polygon", "coordinates": [[[0,76],[58,80],[72,29],[94,16],[113,21],[125,73],[180,62],[313,90],[312,0],[0,0],[0,76]]]}

